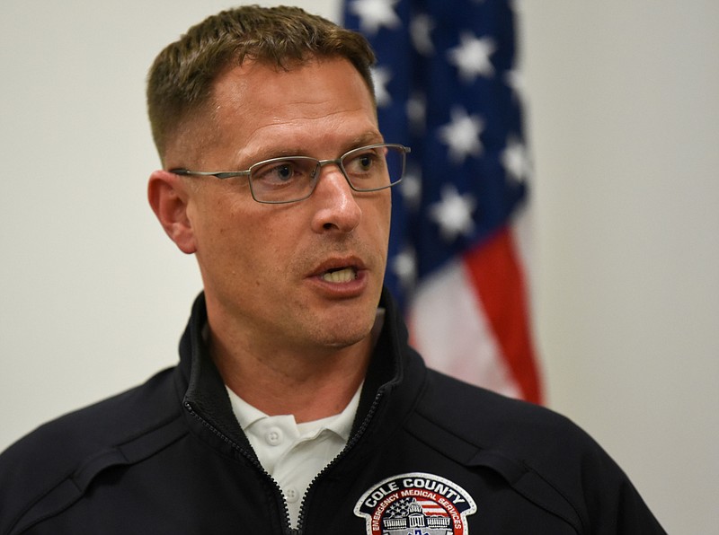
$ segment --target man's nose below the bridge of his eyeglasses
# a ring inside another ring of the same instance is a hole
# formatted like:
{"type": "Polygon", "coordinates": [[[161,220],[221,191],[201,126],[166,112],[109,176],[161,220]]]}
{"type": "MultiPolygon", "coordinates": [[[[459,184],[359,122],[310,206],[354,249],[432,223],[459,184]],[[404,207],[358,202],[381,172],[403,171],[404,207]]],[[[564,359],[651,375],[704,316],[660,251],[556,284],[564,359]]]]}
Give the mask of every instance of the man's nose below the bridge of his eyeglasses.
{"type": "MultiPolygon", "coordinates": [[[[362,219],[350,183],[338,164],[321,166],[317,172],[315,191],[307,200],[315,206],[312,218],[314,232],[352,232],[362,219]]],[[[306,201],[305,201],[306,202],[306,201]]]]}

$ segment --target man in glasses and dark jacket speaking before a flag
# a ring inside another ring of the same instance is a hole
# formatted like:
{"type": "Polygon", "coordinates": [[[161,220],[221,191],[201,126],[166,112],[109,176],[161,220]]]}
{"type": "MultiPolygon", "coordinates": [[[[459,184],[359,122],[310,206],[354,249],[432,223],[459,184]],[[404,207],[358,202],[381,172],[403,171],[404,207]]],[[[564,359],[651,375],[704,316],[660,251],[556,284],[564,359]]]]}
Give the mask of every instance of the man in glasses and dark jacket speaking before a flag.
{"type": "Polygon", "coordinates": [[[180,364],[0,459],[0,533],[662,533],[596,443],[428,371],[382,290],[371,50],[293,8],[155,60],[148,195],[204,292],[180,364]]]}

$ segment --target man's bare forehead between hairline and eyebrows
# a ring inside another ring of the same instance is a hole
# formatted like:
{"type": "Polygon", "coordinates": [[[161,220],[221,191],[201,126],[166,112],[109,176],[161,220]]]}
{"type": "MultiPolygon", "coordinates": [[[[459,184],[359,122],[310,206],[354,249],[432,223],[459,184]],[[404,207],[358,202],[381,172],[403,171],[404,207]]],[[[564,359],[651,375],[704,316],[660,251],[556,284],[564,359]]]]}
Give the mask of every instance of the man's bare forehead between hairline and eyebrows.
{"type": "Polygon", "coordinates": [[[288,70],[245,62],[217,77],[213,96],[219,145],[238,156],[379,138],[371,93],[345,59],[315,59],[288,70]]]}

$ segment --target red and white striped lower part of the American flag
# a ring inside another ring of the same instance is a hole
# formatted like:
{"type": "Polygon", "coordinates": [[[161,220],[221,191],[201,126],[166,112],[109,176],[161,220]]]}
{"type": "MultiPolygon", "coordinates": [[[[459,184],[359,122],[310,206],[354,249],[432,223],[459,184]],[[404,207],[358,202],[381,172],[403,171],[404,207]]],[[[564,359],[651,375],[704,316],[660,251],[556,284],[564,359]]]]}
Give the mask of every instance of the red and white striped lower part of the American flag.
{"type": "Polygon", "coordinates": [[[431,367],[541,402],[527,285],[509,227],[426,278],[413,299],[409,324],[413,346],[431,367]]]}

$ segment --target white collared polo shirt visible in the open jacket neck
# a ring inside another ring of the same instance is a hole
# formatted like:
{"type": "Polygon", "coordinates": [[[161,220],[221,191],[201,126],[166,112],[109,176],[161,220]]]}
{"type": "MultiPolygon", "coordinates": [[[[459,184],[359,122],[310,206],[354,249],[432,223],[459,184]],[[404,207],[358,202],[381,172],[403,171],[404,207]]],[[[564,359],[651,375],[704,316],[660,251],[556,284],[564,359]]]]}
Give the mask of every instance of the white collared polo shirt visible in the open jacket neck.
{"type": "Polygon", "coordinates": [[[297,527],[299,507],[307,487],[347,444],[359,405],[359,390],[350,404],[332,417],[297,424],[293,415],[270,417],[227,388],[232,409],[254,452],[277,481],[288,504],[291,525],[297,527]]]}

